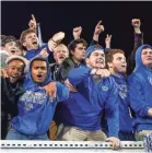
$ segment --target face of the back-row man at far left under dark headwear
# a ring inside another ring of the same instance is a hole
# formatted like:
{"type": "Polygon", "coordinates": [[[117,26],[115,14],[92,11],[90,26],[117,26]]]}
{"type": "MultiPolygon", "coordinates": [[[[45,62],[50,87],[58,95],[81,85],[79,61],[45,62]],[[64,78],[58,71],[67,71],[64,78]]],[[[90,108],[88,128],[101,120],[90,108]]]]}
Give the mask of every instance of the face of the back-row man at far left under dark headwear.
{"type": "Polygon", "coordinates": [[[9,42],[4,45],[4,47],[2,47],[2,49],[8,51],[8,54],[10,56],[16,55],[16,50],[17,50],[16,43],[15,42],[9,42]]]}

